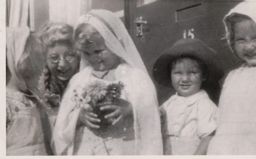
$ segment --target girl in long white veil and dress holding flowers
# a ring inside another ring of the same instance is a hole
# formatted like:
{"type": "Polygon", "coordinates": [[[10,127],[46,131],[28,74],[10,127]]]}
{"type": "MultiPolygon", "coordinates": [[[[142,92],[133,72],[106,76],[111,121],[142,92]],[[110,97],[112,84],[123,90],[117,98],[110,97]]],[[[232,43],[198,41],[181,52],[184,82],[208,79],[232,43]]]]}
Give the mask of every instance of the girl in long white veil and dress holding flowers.
{"type": "Polygon", "coordinates": [[[61,101],[55,153],[163,154],[156,90],[123,22],[110,11],[92,10],[79,18],[74,39],[81,71],[70,80],[61,101]],[[86,102],[91,100],[86,93],[104,84],[121,85],[121,93],[114,102],[98,104],[101,111],[111,111],[100,118],[86,102]],[[103,120],[110,125],[101,125],[103,120]]]}

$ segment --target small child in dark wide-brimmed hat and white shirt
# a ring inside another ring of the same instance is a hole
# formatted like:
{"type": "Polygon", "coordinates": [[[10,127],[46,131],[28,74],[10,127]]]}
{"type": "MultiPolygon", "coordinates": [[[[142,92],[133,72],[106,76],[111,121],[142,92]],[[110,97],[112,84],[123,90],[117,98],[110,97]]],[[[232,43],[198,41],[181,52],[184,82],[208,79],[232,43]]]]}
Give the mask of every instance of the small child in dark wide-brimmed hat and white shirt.
{"type": "Polygon", "coordinates": [[[154,64],[154,79],[177,91],[160,107],[165,154],[206,154],[217,128],[217,106],[205,89],[216,87],[223,75],[216,55],[198,39],[181,39],[154,64]]]}

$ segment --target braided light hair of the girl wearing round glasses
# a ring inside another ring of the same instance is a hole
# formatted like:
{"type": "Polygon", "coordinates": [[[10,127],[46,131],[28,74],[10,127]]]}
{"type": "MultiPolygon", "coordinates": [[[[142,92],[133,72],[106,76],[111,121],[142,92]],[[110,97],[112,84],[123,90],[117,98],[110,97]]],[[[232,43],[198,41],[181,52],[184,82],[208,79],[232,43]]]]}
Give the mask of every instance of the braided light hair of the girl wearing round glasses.
{"type": "MultiPolygon", "coordinates": [[[[49,22],[45,24],[44,29],[40,32],[40,38],[42,39],[42,41],[44,41],[46,45],[45,58],[48,52],[48,48],[54,48],[58,44],[65,45],[73,49],[73,32],[73,27],[66,23],[49,22]]],[[[77,56],[76,62],[78,63],[79,68],[80,56],[77,56]]],[[[56,107],[59,105],[59,101],[56,101],[53,95],[58,96],[58,100],[60,100],[60,96],[63,95],[65,89],[63,89],[63,85],[51,81],[51,77],[53,77],[54,75],[49,70],[47,63],[44,63],[43,66],[44,70],[42,71],[42,74],[39,78],[38,89],[46,97],[47,103],[49,103],[51,107],[56,107]]],[[[61,81],[60,83],[65,83],[66,88],[67,82],[68,81],[61,81]]]]}

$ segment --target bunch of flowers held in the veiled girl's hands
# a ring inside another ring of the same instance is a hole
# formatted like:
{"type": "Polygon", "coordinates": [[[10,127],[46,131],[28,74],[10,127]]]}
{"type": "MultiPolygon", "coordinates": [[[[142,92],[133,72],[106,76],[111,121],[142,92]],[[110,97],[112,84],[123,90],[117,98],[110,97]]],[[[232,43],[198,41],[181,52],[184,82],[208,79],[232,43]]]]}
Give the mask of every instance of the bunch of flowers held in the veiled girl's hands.
{"type": "Polygon", "coordinates": [[[111,125],[112,120],[106,120],[104,116],[111,113],[112,110],[101,111],[98,104],[103,102],[114,102],[115,99],[121,96],[123,89],[124,84],[121,81],[106,85],[104,82],[96,80],[85,87],[78,86],[74,90],[72,101],[75,103],[75,108],[82,107],[96,113],[101,120],[101,127],[111,125]]]}

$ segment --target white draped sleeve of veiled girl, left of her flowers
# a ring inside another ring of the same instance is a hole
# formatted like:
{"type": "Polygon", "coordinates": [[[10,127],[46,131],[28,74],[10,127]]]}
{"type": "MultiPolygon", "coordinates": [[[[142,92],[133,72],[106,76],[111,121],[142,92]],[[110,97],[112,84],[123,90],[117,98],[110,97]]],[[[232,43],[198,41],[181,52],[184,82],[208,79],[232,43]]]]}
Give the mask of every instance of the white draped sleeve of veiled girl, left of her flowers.
{"type": "MultiPolygon", "coordinates": [[[[83,71],[86,71],[86,69],[83,71]]],[[[86,81],[83,71],[72,77],[62,97],[54,126],[53,142],[51,143],[55,155],[71,152],[72,146],[74,145],[75,128],[81,108],[75,108],[72,98],[74,97],[74,89],[77,85],[86,81]]]]}

